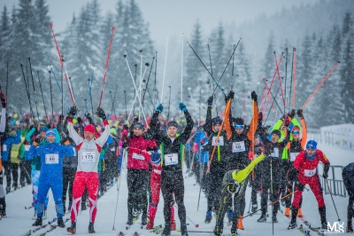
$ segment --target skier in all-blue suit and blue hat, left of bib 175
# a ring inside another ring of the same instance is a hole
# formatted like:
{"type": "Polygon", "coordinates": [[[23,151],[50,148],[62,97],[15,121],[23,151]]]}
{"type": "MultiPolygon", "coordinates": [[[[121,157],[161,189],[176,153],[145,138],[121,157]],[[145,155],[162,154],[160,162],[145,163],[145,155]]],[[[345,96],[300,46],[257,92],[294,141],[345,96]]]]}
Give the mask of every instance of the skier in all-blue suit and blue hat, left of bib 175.
{"type": "Polygon", "coordinates": [[[64,206],[62,202],[63,162],[64,155],[73,156],[73,146],[70,145],[68,140],[65,141],[65,145],[58,145],[58,143],[55,142],[56,132],[54,130],[48,130],[46,132],[46,137],[48,144],[38,146],[40,141],[39,138],[36,138],[33,145],[29,148],[29,152],[32,156],[41,156],[41,176],[39,177],[37,205],[38,217],[33,226],[42,225],[44,201],[47,197],[48,191],[51,189],[56,204],[55,208],[58,216],[58,226],[64,228],[64,206]]]}

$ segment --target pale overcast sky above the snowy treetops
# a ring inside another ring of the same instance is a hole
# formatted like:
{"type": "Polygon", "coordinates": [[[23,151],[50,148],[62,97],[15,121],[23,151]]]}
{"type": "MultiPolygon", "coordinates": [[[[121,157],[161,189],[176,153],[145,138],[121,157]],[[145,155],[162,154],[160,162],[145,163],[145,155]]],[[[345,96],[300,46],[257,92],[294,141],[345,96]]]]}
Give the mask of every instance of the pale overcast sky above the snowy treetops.
{"type": "MultiPolygon", "coordinates": [[[[32,0],[34,1],[34,0],[32,0]]],[[[129,0],[125,0],[129,1],[129,0]]],[[[155,43],[165,43],[170,21],[170,35],[191,34],[193,25],[199,20],[204,34],[209,35],[213,28],[219,25],[220,20],[226,24],[238,24],[254,20],[260,14],[270,16],[283,8],[293,5],[314,4],[319,0],[135,0],[140,5],[142,15],[150,23],[150,35],[155,43]]],[[[65,30],[72,20],[73,13],[81,11],[81,6],[89,0],[47,0],[50,6],[50,17],[54,30],[65,30]]],[[[115,12],[118,0],[99,0],[101,12],[115,12]]],[[[9,12],[12,6],[19,4],[19,0],[1,0],[0,7],[3,12],[4,5],[9,12]]]]}

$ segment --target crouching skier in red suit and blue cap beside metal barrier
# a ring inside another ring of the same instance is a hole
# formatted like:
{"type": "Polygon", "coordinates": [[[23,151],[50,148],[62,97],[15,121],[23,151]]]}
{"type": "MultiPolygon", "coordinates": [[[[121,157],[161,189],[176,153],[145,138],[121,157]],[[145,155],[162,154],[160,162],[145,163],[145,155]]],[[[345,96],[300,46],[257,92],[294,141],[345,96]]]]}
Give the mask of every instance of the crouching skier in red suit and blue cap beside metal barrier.
{"type": "Polygon", "coordinates": [[[293,162],[293,165],[297,171],[297,192],[294,194],[294,200],[291,207],[291,222],[288,229],[296,228],[297,210],[299,208],[301,195],[304,191],[304,185],[309,185],[312,193],[315,195],[315,198],[319,204],[319,216],[322,229],[327,229],[326,205],[323,199],[322,187],[319,183],[319,175],[317,173],[319,161],[325,164],[323,177],[327,179],[330,166],[329,161],[326,155],[317,149],[316,141],[310,140],[306,144],[306,149],[300,152],[293,162]]]}

